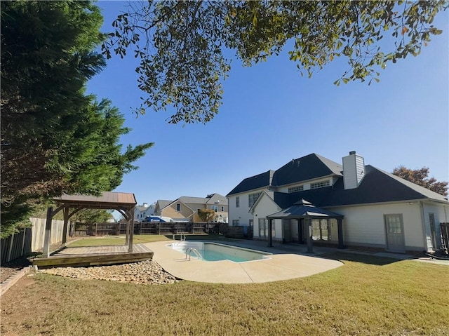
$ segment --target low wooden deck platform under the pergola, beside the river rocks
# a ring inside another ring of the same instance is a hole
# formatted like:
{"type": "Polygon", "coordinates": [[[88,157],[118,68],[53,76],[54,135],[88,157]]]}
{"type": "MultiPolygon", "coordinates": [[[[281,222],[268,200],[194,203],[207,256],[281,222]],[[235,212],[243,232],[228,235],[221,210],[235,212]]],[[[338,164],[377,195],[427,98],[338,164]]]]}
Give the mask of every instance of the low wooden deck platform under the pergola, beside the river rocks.
{"type": "Polygon", "coordinates": [[[153,251],[144,244],[133,245],[133,252],[128,253],[128,246],[90,246],[64,248],[47,258],[36,258],[33,265],[39,269],[51,267],[86,267],[108,264],[139,262],[153,258],[153,251]]]}

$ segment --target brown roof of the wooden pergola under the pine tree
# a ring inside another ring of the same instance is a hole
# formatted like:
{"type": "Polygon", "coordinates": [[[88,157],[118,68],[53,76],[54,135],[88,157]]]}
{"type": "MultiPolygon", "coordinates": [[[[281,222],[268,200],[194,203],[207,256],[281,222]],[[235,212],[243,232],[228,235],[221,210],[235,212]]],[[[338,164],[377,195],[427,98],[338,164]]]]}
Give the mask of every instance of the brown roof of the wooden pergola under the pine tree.
{"type": "Polygon", "coordinates": [[[134,194],[104,191],[101,196],[67,195],[53,199],[58,206],[70,206],[85,209],[133,208],[137,204],[134,194]]]}

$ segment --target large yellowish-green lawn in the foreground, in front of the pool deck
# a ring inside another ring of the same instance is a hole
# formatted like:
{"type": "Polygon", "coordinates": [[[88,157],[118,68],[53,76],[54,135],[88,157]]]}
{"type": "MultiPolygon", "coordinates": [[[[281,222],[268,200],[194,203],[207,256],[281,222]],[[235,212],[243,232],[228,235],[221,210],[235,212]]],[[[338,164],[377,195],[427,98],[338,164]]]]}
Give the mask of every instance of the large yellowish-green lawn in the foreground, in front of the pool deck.
{"type": "Polygon", "coordinates": [[[327,257],[344,266],[245,285],[135,285],[36,274],[1,297],[1,334],[449,335],[449,267],[349,253],[327,257]]]}

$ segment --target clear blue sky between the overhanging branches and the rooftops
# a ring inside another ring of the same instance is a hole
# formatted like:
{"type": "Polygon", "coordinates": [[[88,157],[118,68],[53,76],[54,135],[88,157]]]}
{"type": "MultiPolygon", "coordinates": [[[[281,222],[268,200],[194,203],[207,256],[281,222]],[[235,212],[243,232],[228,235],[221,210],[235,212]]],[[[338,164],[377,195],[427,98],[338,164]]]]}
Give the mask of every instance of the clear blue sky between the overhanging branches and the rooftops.
{"type": "MultiPolygon", "coordinates": [[[[104,32],[126,2],[99,1],[104,32]]],[[[316,153],[341,163],[355,150],[365,163],[391,172],[396,166],[430,168],[449,180],[448,13],[439,13],[434,36],[416,58],[387,65],[380,83],[333,82],[347,69],[331,62],[308,79],[287,51],[253,67],[237,60],[224,81],[220,113],[203,124],[169,125],[167,112],[131,111],[142,93],[132,53],[114,56],[88,83],[88,93],[112,100],[132,128],[124,147],[155,142],[123,177],[116,191],[133,192],[139,204],[180,196],[226,195],[243,178],[276,170],[291,159],[316,153]]],[[[374,81],[373,81],[374,82],[374,81]]]]}

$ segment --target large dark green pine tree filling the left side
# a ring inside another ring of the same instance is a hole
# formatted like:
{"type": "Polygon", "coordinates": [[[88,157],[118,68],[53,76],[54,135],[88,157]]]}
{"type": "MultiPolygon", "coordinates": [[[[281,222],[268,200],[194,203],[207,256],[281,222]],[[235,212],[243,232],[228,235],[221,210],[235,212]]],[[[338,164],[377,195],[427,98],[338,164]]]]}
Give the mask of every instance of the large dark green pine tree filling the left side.
{"type": "Polygon", "coordinates": [[[114,189],[152,146],[122,151],[123,116],[85,93],[101,25],[91,1],[1,1],[1,237],[63,192],[114,189]]]}

